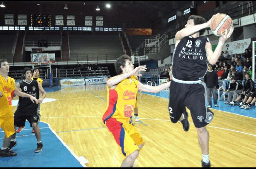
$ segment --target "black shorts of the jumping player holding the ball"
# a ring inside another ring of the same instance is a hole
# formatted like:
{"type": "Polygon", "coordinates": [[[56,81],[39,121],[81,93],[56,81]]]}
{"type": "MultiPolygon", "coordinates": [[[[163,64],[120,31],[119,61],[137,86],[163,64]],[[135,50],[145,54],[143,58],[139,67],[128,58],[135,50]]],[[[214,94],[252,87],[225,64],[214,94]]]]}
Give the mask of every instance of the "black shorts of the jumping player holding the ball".
{"type": "Polygon", "coordinates": [[[196,128],[208,125],[213,113],[206,107],[206,97],[205,83],[184,84],[172,79],[168,106],[171,121],[177,123],[187,107],[196,128]]]}

